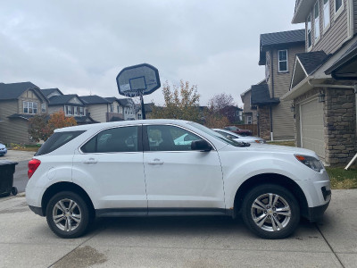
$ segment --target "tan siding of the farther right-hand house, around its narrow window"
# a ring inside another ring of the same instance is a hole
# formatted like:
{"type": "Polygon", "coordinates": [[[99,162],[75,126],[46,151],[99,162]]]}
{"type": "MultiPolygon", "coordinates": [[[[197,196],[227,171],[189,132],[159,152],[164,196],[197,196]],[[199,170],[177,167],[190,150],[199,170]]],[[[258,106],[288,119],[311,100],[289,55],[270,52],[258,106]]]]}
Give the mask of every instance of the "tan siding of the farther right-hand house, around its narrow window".
{"type": "MultiPolygon", "coordinates": [[[[281,97],[289,91],[291,76],[294,71],[295,55],[304,52],[304,46],[290,46],[272,51],[274,75],[274,97],[281,97]],[[287,49],[288,72],[278,72],[278,50],[287,49]]],[[[271,89],[270,89],[271,90],[271,89]]],[[[280,102],[272,107],[272,123],[274,139],[295,138],[294,114],[291,112],[291,102],[280,102]]]]}

